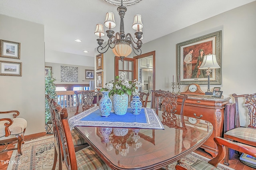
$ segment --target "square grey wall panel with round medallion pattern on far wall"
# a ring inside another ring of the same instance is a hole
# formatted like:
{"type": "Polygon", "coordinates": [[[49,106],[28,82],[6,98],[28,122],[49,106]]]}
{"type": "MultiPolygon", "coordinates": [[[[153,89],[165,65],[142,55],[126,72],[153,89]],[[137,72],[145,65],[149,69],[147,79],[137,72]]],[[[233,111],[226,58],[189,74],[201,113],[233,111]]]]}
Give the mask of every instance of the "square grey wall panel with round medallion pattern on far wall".
{"type": "Polygon", "coordinates": [[[78,67],[60,66],[60,82],[78,82],[78,67]]]}

